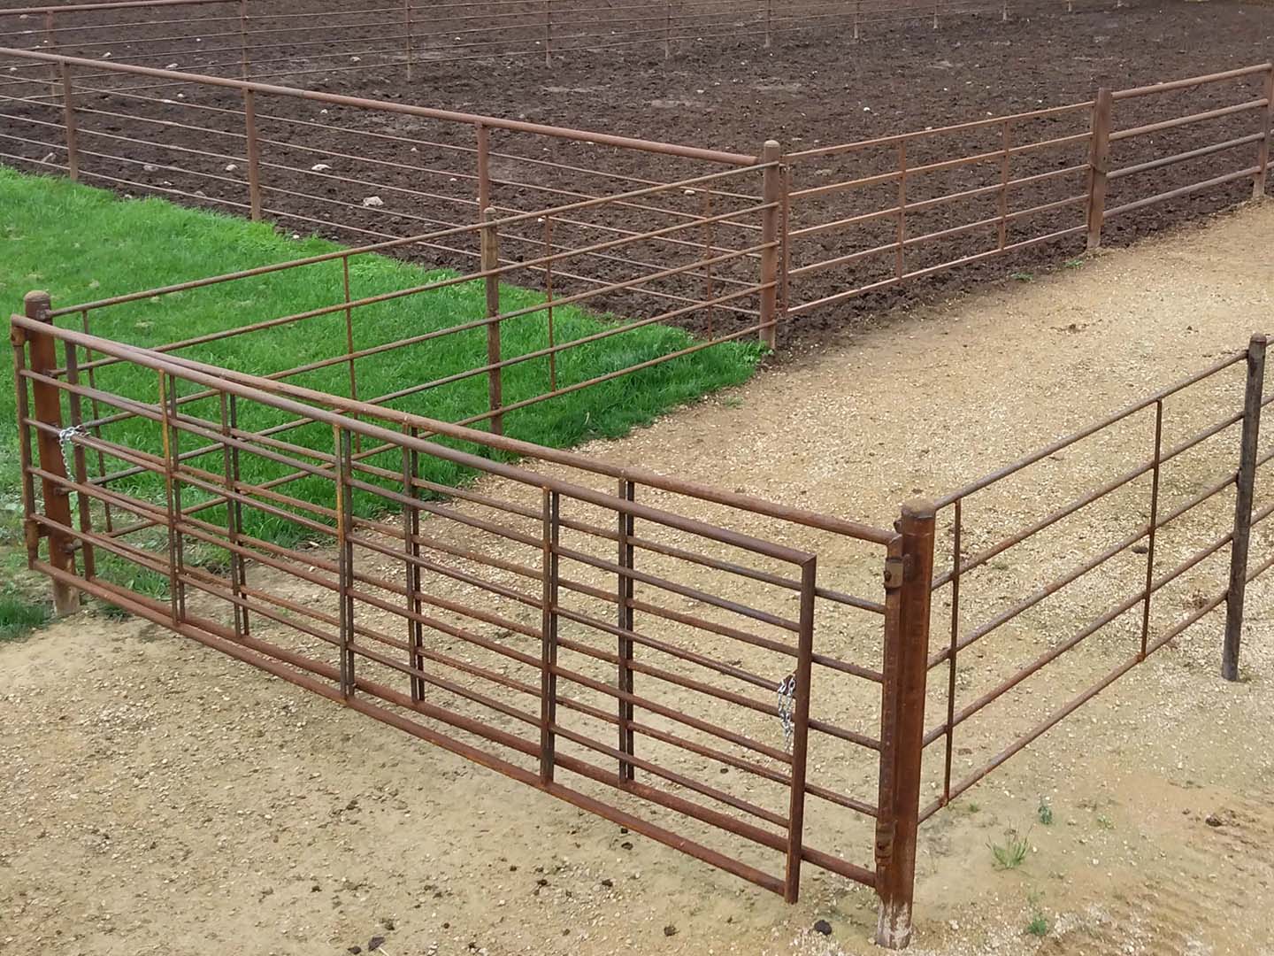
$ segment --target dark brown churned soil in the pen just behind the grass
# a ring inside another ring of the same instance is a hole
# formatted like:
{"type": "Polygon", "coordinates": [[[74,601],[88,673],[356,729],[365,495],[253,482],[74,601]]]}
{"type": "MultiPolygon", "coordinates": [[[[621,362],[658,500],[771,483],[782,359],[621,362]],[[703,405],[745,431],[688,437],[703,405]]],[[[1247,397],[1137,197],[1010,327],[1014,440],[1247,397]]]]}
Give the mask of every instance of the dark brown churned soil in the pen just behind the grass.
{"type": "MultiPolygon", "coordinates": [[[[279,13],[293,9],[312,8],[302,0],[279,5],[279,13]]],[[[297,47],[289,43],[289,34],[274,36],[278,40],[278,56],[296,57],[279,68],[283,71],[275,79],[284,83],[752,154],[767,138],[777,139],[789,150],[798,150],[1080,102],[1091,98],[1098,85],[1125,88],[1261,62],[1269,56],[1271,33],[1274,10],[1263,6],[1168,3],[1068,14],[1061,4],[1054,4],[1049,6],[1049,11],[1010,23],[1000,23],[995,17],[970,15],[944,20],[939,31],[922,23],[878,29],[857,43],[843,31],[827,31],[823,34],[786,36],[771,51],[758,48],[752,41],[705,41],[683,46],[670,60],[664,60],[662,51],[657,47],[634,47],[604,54],[571,52],[554,59],[552,66],[547,66],[539,57],[438,61],[419,66],[412,82],[406,82],[401,65],[375,66],[364,62],[352,69],[352,64],[338,61],[339,66],[334,68],[331,60],[316,59],[324,52],[324,47],[297,47]]],[[[312,42],[315,36],[308,32],[298,34],[296,40],[312,42]]],[[[127,56],[125,52],[117,59],[126,60],[127,56]]],[[[176,59],[182,69],[200,68],[197,57],[176,59]]],[[[237,108],[236,98],[219,97],[208,91],[187,91],[186,94],[190,97],[186,103],[141,105],[139,101],[127,101],[122,106],[144,111],[154,119],[197,122],[210,129],[241,127],[237,117],[219,117],[217,113],[187,108],[196,101],[200,106],[237,108]]],[[[150,96],[172,97],[175,93],[155,91],[150,96]]],[[[1121,103],[1116,120],[1120,126],[1131,126],[1236,103],[1247,96],[1255,96],[1251,84],[1246,94],[1233,84],[1181,91],[1172,96],[1121,103]]],[[[121,108],[117,98],[85,96],[83,102],[98,108],[121,108]]],[[[405,117],[378,117],[373,124],[353,111],[333,108],[320,113],[316,103],[270,99],[262,103],[260,111],[265,115],[329,124],[348,122],[352,129],[358,130],[473,147],[473,130],[469,127],[422,124],[405,117]]],[[[13,106],[10,110],[17,116],[22,107],[13,106]]],[[[1020,135],[1047,133],[1060,136],[1082,130],[1087,122],[1087,116],[1080,112],[1070,119],[1023,127],[1020,135]]],[[[0,120],[0,127],[5,124],[15,121],[0,120]]],[[[157,133],[153,125],[143,126],[122,119],[85,117],[83,126],[113,131],[116,135],[143,135],[164,144],[195,149],[220,149],[232,154],[242,150],[242,144],[237,140],[220,141],[213,134],[181,129],[157,133]]],[[[471,206],[457,210],[454,205],[455,201],[471,200],[473,184],[469,178],[447,181],[442,177],[440,181],[414,170],[385,167],[368,171],[359,168],[353,159],[334,158],[333,154],[406,162],[413,167],[441,164],[459,168],[468,159],[457,159],[455,154],[433,154],[424,147],[413,154],[403,143],[371,139],[357,131],[330,133],[270,121],[264,121],[262,129],[262,135],[282,143],[265,147],[269,162],[303,171],[324,162],[333,167],[331,175],[362,176],[380,184],[377,190],[372,190],[333,180],[316,182],[313,177],[268,168],[266,185],[275,190],[268,192],[268,205],[307,217],[284,219],[288,226],[302,231],[317,228],[349,238],[350,233],[345,229],[350,227],[403,235],[428,228],[426,222],[471,222],[471,206]],[[394,185],[426,189],[446,196],[446,201],[422,200],[385,189],[394,185]],[[278,192],[278,189],[293,189],[318,199],[288,196],[278,192]],[[383,208],[361,206],[371,191],[381,195],[383,208]],[[348,205],[334,206],[334,201],[348,205]],[[408,214],[423,217],[423,221],[403,218],[408,214]]],[[[1241,113],[1176,133],[1139,138],[1117,145],[1115,162],[1134,163],[1152,156],[1182,152],[1243,135],[1252,129],[1254,115],[1241,113]]],[[[47,138],[48,134],[45,135],[47,138]]],[[[998,135],[999,130],[992,127],[980,134],[944,136],[927,147],[917,145],[908,162],[915,164],[926,159],[994,149],[998,135]]],[[[101,139],[82,136],[85,143],[96,143],[98,149],[103,147],[101,139]]],[[[121,144],[111,141],[106,145],[115,150],[121,144]]],[[[552,145],[552,152],[547,152],[547,144],[541,140],[511,135],[497,135],[493,144],[497,150],[507,150],[510,154],[606,167],[651,178],[675,178],[702,172],[702,167],[692,168],[685,162],[670,162],[645,153],[599,150],[578,144],[548,145],[552,145]]],[[[48,152],[45,147],[14,148],[24,149],[24,154],[32,158],[48,152]]],[[[163,164],[176,162],[178,167],[211,172],[220,180],[183,177],[167,166],[143,172],[136,164],[121,164],[103,158],[87,158],[84,168],[155,186],[166,184],[167,187],[189,191],[199,189],[208,196],[237,203],[245,200],[242,168],[228,173],[223,168],[224,161],[217,158],[204,159],[191,154],[175,158],[171,152],[143,145],[129,147],[129,150],[135,161],[163,164]]],[[[1254,162],[1250,156],[1252,152],[1252,148],[1229,150],[1152,175],[1129,177],[1112,185],[1110,204],[1242,168],[1254,162]]],[[[857,154],[852,161],[801,164],[795,170],[794,186],[836,181],[827,177],[854,178],[884,168],[893,158],[892,150],[887,150],[857,154]]],[[[1014,175],[1043,172],[1082,163],[1084,159],[1074,149],[1069,153],[1059,150],[1041,154],[1033,159],[1023,159],[1014,168],[1014,175]]],[[[994,164],[961,167],[941,175],[917,177],[910,186],[910,199],[919,200],[998,181],[999,171],[992,167],[994,164]]],[[[494,172],[519,182],[563,190],[596,191],[604,185],[596,177],[536,172],[521,163],[510,163],[507,168],[497,168],[494,172]]],[[[1033,206],[1082,191],[1083,182],[1074,177],[1034,184],[1015,191],[1013,208],[1033,206]]],[[[1229,205],[1247,195],[1249,186],[1237,182],[1154,205],[1111,222],[1106,241],[1110,245],[1122,245],[1172,223],[1229,205]]],[[[508,209],[541,208],[557,201],[552,194],[515,186],[497,187],[494,200],[508,209]]],[[[861,190],[842,194],[834,200],[801,203],[794,208],[792,221],[796,226],[826,222],[878,209],[892,201],[894,199],[891,195],[861,190]]],[[[910,217],[908,235],[936,232],[994,215],[994,196],[972,199],[916,214],[910,217]]],[[[1070,208],[1032,217],[1020,223],[1018,235],[1010,229],[1009,241],[1075,224],[1082,215],[1080,208],[1070,208]]],[[[614,224],[626,223],[615,221],[614,224]]],[[[650,228],[646,221],[631,219],[627,224],[650,228]]],[[[891,241],[888,232],[893,229],[893,223],[883,222],[878,226],[884,231],[880,235],[877,227],[864,226],[819,242],[798,243],[792,250],[792,265],[891,241]]],[[[561,238],[567,240],[564,232],[561,238]]],[[[981,251],[986,249],[986,242],[987,233],[984,229],[908,251],[907,269],[921,269],[981,251]]],[[[1068,259],[1080,247],[1082,241],[1073,237],[1009,259],[940,273],[902,288],[873,293],[805,316],[794,324],[794,333],[817,340],[819,335],[834,333],[846,324],[856,325],[879,310],[934,301],[935,297],[976,288],[1009,272],[1036,270],[1049,263],[1068,259]]],[[[505,243],[505,254],[510,256],[530,255],[534,251],[516,242],[505,243]]],[[[651,257],[655,254],[646,255],[651,257]]],[[[440,254],[436,259],[452,265],[470,265],[470,260],[464,256],[440,254]]],[[[805,277],[794,286],[794,301],[813,300],[868,284],[879,278],[882,269],[893,268],[892,256],[879,259],[877,263],[856,264],[851,269],[805,277]],[[884,259],[889,261],[883,261],[884,259]]],[[[620,265],[599,260],[590,263],[589,272],[612,279],[631,274],[620,265]]],[[[698,294],[702,280],[696,277],[693,282],[699,283],[694,287],[694,293],[698,294]]],[[[642,301],[636,296],[614,296],[601,305],[627,314],[642,314],[651,308],[651,301],[642,301]]],[[[703,316],[696,315],[691,321],[702,325],[703,316]]]]}

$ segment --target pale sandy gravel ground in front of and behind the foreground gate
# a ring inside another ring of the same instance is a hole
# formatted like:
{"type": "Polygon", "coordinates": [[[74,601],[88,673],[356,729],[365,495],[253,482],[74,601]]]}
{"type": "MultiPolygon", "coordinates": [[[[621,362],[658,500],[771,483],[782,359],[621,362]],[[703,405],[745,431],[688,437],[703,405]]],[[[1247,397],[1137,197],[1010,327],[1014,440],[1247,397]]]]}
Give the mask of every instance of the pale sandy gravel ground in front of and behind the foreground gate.
{"type": "MultiPolygon", "coordinates": [[[[1245,343],[1271,305],[1274,247],[1257,241],[1271,231],[1274,208],[1247,209],[882,316],[587,451],[885,523],[916,489],[949,489],[1245,343]]],[[[1005,528],[1023,509],[990,503],[1005,528]]],[[[1077,537],[1108,538],[1108,516],[1083,520],[1077,537]]],[[[1020,593],[1042,563],[1028,551],[992,589],[1020,593]]],[[[1249,591],[1241,683],[1217,676],[1213,614],[925,826],[915,952],[1274,952],[1270,588],[1249,591]],[[989,844],[1008,830],[1029,853],[996,869],[989,844]],[[1042,937],[1026,932],[1037,915],[1042,937]]],[[[1051,613],[1082,623],[1085,595],[1099,608],[1103,585],[1051,613]]],[[[970,613],[991,605],[971,598],[970,613]]],[[[986,669],[1020,658],[1014,640],[986,669]]],[[[1103,641],[1023,707],[1108,667],[1117,637],[1103,641]]],[[[785,906],[144,622],[85,612],[0,648],[0,668],[3,952],[871,951],[866,890],[810,869],[785,906]]],[[[1010,723],[970,730],[961,766],[1010,723]]]]}

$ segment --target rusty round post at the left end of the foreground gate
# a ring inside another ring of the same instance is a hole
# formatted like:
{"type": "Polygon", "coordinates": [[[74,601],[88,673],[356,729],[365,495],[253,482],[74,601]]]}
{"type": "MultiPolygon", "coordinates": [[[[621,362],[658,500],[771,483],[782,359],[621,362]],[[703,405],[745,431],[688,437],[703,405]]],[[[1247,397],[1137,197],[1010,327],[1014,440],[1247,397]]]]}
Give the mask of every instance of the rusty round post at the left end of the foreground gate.
{"type": "MultiPolygon", "coordinates": [[[[23,298],[23,312],[28,319],[52,325],[52,301],[47,292],[28,292],[23,298]]],[[[29,331],[27,335],[28,367],[36,375],[50,375],[57,367],[57,343],[52,335],[29,331]]],[[[25,384],[19,382],[25,393],[25,384]]],[[[62,431],[62,403],[55,385],[33,381],[31,393],[36,405],[36,421],[45,428],[36,432],[39,468],[56,478],[66,478],[66,463],[57,436],[62,431]]],[[[20,405],[19,405],[20,407],[20,405]]],[[[42,479],[45,518],[51,523],[48,532],[48,563],[59,571],[74,572],[74,547],[70,535],[61,528],[71,526],[71,501],[66,487],[48,478],[42,479]],[[52,525],[60,525],[55,528],[52,525]]],[[[29,502],[28,521],[34,514],[34,501],[29,502]]],[[[32,534],[28,530],[28,534],[32,534]]],[[[79,611],[79,591],[65,581],[54,581],[54,613],[71,614],[79,611]]]]}

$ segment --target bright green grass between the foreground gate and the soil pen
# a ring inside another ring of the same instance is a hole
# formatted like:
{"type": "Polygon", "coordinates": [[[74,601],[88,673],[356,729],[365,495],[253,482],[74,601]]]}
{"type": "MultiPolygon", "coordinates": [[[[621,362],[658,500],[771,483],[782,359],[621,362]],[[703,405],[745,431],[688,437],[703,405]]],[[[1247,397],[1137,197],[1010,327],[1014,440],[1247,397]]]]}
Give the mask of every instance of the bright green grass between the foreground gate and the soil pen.
{"type": "MultiPolygon", "coordinates": [[[[0,167],[0,301],[13,312],[22,310],[22,297],[31,289],[46,289],[54,306],[65,307],[126,292],[173,284],[192,278],[231,273],[252,266],[289,261],[338,250],[320,238],[290,238],[268,223],[250,223],[213,213],[185,209],[159,199],[125,200],[111,192],[66,180],[32,177],[0,167]]],[[[420,286],[452,275],[397,259],[359,256],[350,265],[354,298],[420,286]]],[[[344,294],[339,260],[283,273],[243,279],[201,289],[97,310],[92,333],[138,345],[158,345],[204,333],[340,302],[344,294]]],[[[505,286],[503,311],[536,308],[539,292],[505,286]]],[[[367,348],[409,335],[450,328],[480,319],[485,298],[480,283],[464,283],[354,311],[354,347],[367,348]]],[[[502,324],[503,357],[511,358],[547,347],[547,311],[502,324]]],[[[555,340],[563,343],[613,328],[613,316],[582,308],[554,308],[555,340]]],[[[59,320],[79,326],[78,316],[59,320]]],[[[241,372],[266,375],[283,368],[317,362],[347,351],[343,312],[307,319],[287,326],[222,339],[183,351],[181,354],[241,372]]],[[[557,357],[557,384],[564,387],[608,372],[675,352],[694,339],[680,329],[650,325],[620,335],[587,343],[557,357]]],[[[3,351],[3,377],[11,375],[11,356],[3,351]]],[[[594,437],[618,437],[634,426],[717,389],[745,381],[762,356],[753,342],[716,345],[566,396],[529,405],[505,416],[505,432],[512,437],[568,447],[594,437]]],[[[82,358],[83,361],[83,358],[82,358]]],[[[354,372],[363,399],[440,379],[487,361],[485,330],[473,329],[359,359],[354,372]]],[[[349,367],[345,363],[294,376],[289,381],[318,391],[348,395],[349,367]]],[[[157,376],[136,366],[113,366],[97,373],[99,389],[155,402],[157,376]]],[[[511,366],[503,373],[505,404],[544,393],[549,387],[549,363],[536,358],[511,366]]],[[[180,394],[195,391],[190,384],[180,394]]],[[[431,418],[457,421],[485,410],[487,377],[474,376],[431,389],[392,403],[390,408],[431,418]]],[[[186,409],[217,419],[213,400],[195,402],[186,409]]],[[[9,509],[0,523],[17,520],[11,498],[17,496],[17,427],[11,386],[0,389],[0,503],[9,509]]],[[[284,422],[287,416],[254,403],[240,403],[240,426],[259,430],[284,422]]],[[[478,426],[483,427],[483,426],[478,426]]],[[[104,437],[124,446],[159,453],[162,436],[155,423],[131,419],[108,426],[104,437]]],[[[331,453],[333,435],[326,426],[306,426],[280,435],[288,441],[331,453]]],[[[182,438],[182,449],[195,438],[182,438]]],[[[455,442],[454,442],[455,444],[455,442]]],[[[466,446],[478,450],[476,446],[466,446]]],[[[397,470],[400,455],[387,455],[373,464],[397,470]]],[[[96,464],[96,463],[94,463],[96,464]]],[[[220,470],[220,453],[191,464],[220,470]]],[[[107,461],[108,470],[122,467],[107,461]]],[[[259,483],[284,474],[279,463],[250,455],[241,463],[246,482],[259,483]]],[[[455,486],[471,475],[440,459],[422,459],[422,477],[455,486]]],[[[159,503],[164,489],[154,475],[126,479],[120,491],[159,503]]],[[[333,483],[303,478],[284,488],[289,495],[330,506],[333,483]]],[[[183,492],[186,503],[199,493],[183,492]]],[[[362,514],[383,510],[373,496],[355,496],[362,514]]],[[[208,521],[223,520],[209,509],[208,521]]],[[[13,526],[10,526],[10,537],[13,526]]],[[[304,529],[279,518],[251,510],[245,530],[279,543],[304,540],[304,529]]],[[[20,538],[20,535],[18,535],[20,538]]],[[[215,556],[209,556],[215,561],[215,556]]],[[[108,562],[107,562],[108,563],[108,562]]],[[[135,569],[132,574],[135,574],[135,569]]],[[[125,579],[126,580],[126,579],[125,579]]]]}

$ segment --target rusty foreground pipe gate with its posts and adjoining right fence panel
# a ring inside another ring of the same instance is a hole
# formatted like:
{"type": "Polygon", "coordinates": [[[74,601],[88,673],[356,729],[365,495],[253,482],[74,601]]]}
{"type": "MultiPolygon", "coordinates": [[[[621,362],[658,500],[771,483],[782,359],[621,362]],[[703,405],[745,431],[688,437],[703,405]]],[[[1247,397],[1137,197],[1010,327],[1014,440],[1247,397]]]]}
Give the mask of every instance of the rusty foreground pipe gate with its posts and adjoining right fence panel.
{"type": "Polygon", "coordinates": [[[1274,400],[1263,337],[943,498],[953,565],[936,576],[927,502],[873,528],[57,328],[45,293],[11,340],[29,562],[59,612],[79,593],[120,605],[789,901],[805,863],[871,886],[894,948],[911,936],[920,821],[1223,603],[1237,677],[1245,585],[1274,565],[1247,560],[1274,514],[1254,498],[1274,458],[1257,442],[1274,400]],[[1167,446],[1164,402],[1227,370],[1243,372],[1240,410],[1167,446]],[[971,496],[1147,410],[1149,461],[962,553],[971,496]],[[1237,465],[1161,502],[1168,463],[1231,428],[1238,453],[1209,454],[1237,465]],[[1138,478],[1153,479],[1147,521],[962,627],[962,580],[1138,478]],[[1156,534],[1229,488],[1233,523],[1157,574],[1156,534]],[[1130,598],[957,704],[961,650],[1142,540],[1130,598]],[[1220,593],[1152,632],[1152,595],[1227,546],[1220,593]],[[947,586],[950,645],[930,654],[947,586]],[[961,724],[1138,608],[1127,662],[953,778],[961,724]],[[926,728],[938,667],[947,713],[926,728]],[[921,811],[939,742],[940,797],[921,811]]]}

